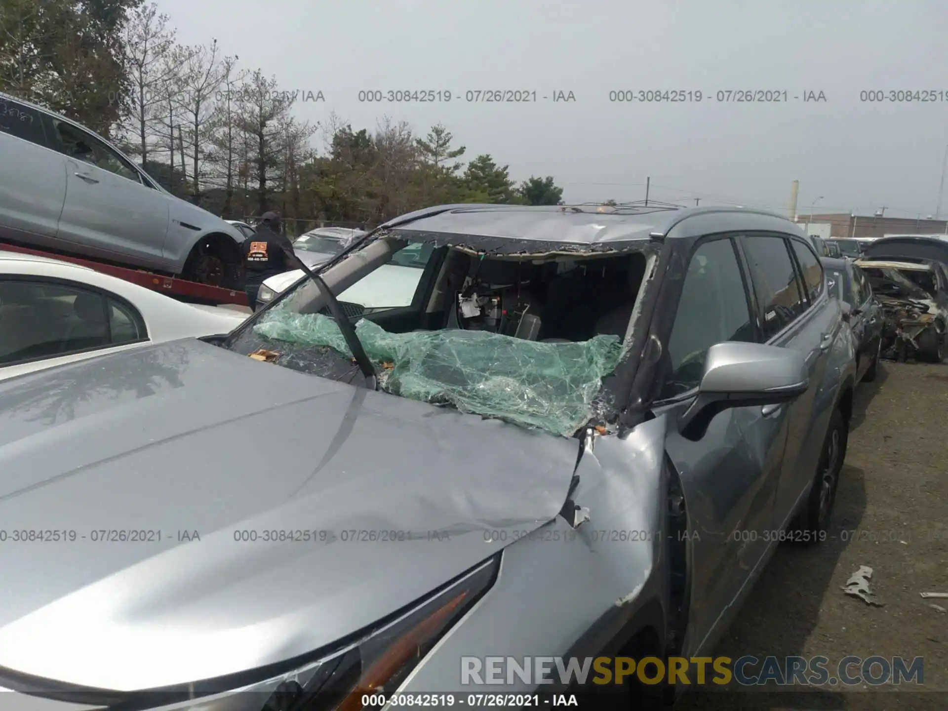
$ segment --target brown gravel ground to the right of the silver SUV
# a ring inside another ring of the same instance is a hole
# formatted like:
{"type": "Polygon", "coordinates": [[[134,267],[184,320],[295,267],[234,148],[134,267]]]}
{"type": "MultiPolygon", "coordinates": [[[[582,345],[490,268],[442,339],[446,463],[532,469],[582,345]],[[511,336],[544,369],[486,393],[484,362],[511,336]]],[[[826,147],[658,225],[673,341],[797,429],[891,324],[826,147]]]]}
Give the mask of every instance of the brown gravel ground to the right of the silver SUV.
{"type": "Polygon", "coordinates": [[[676,709],[948,709],[948,613],[929,607],[948,600],[919,594],[948,593],[948,365],[882,362],[853,410],[831,538],[777,549],[715,655],[823,655],[830,673],[847,655],[921,656],[924,685],[693,693],[676,709]],[[884,607],[840,590],[861,565],[884,607]]]}

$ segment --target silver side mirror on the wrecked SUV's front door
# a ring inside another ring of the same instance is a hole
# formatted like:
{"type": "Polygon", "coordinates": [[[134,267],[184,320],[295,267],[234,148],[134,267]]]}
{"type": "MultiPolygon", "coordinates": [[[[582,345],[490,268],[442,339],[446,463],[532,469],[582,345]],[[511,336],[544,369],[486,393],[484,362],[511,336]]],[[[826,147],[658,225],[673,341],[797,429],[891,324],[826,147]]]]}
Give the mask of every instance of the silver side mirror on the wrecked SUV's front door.
{"type": "Polygon", "coordinates": [[[686,439],[700,440],[730,408],[790,402],[810,386],[807,363],[790,348],[727,341],[708,349],[698,396],[679,418],[686,439]]]}

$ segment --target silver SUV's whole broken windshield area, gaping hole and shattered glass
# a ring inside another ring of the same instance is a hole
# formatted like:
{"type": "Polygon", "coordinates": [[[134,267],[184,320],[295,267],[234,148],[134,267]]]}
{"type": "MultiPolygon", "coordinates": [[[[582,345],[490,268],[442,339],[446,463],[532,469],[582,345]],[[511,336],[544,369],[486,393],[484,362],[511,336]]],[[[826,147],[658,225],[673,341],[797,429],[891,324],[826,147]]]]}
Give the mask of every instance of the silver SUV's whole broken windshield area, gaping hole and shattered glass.
{"type": "MultiPolygon", "coordinates": [[[[321,277],[355,324],[382,391],[569,436],[589,422],[625,353],[650,263],[641,249],[556,250],[488,255],[386,236],[321,277]]],[[[367,382],[310,281],[227,347],[367,382]]]]}

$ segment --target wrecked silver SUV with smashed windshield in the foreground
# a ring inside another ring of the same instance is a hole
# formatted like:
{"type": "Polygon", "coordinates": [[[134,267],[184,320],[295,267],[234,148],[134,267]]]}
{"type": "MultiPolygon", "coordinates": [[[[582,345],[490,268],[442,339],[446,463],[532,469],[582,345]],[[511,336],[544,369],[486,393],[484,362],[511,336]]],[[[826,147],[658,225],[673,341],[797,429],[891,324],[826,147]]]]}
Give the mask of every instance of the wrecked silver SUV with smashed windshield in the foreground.
{"type": "Polygon", "coordinates": [[[0,384],[0,686],[564,690],[484,660],[707,654],[778,541],[827,538],[852,342],[792,222],[443,206],[319,276],[227,337],[0,384]],[[408,305],[336,300],[406,248],[408,305]]]}

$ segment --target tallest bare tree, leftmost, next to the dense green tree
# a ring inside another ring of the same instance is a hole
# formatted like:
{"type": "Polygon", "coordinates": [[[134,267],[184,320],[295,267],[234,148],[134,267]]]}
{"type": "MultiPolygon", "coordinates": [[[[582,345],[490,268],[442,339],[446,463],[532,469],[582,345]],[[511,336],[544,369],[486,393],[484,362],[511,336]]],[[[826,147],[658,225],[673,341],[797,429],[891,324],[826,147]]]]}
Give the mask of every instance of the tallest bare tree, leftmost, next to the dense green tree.
{"type": "Polygon", "coordinates": [[[109,97],[118,101],[125,117],[120,130],[137,139],[137,145],[129,141],[130,150],[141,157],[142,166],[148,160],[149,139],[154,137],[156,112],[168,98],[168,83],[180,68],[169,60],[183,59],[179,53],[170,54],[174,30],[167,27],[168,19],[168,15],[158,14],[154,3],[132,11],[124,29],[123,56],[132,89],[127,95],[113,93],[109,97]]]}

